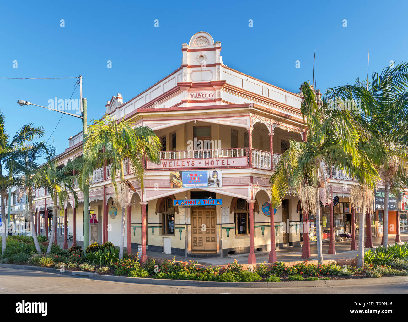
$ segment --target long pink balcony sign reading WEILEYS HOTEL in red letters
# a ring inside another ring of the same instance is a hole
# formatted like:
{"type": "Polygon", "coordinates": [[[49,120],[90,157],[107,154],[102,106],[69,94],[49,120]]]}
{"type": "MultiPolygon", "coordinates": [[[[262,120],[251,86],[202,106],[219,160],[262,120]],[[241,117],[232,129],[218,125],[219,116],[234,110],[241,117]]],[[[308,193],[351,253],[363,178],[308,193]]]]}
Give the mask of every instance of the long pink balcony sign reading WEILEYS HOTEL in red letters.
{"type": "Polygon", "coordinates": [[[155,164],[147,161],[148,169],[174,169],[174,168],[227,168],[227,167],[246,167],[246,157],[236,158],[211,158],[211,159],[182,159],[182,160],[162,160],[161,164],[155,164]]]}

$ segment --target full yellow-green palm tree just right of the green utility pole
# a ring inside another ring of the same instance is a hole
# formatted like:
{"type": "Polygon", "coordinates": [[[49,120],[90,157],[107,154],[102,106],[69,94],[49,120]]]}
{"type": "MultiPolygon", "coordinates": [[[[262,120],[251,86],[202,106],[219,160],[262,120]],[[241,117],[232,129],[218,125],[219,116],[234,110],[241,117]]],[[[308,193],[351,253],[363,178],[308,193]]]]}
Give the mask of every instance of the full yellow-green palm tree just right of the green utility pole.
{"type": "Polygon", "coordinates": [[[129,203],[129,189],[135,191],[130,181],[125,180],[123,163],[128,160],[128,166],[133,168],[134,177],[140,181],[143,189],[145,159],[160,163],[160,139],[149,127],[135,127],[134,123],[125,121],[124,118],[116,121],[110,114],[105,114],[101,120],[93,120],[93,125],[88,131],[84,144],[83,164],[79,172],[79,185],[82,188],[87,182],[98,160],[111,162],[115,203],[122,208],[119,257],[123,258],[125,210],[129,203]],[[119,184],[116,182],[117,173],[120,177],[119,184]]]}

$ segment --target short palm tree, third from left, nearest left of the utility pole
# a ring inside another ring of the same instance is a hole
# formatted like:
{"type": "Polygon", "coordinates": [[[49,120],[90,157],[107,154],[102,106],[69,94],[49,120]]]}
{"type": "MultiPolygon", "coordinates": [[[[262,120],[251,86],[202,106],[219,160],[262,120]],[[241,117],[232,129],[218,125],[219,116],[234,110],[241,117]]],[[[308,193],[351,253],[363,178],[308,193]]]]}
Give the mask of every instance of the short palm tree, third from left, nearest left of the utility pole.
{"type": "Polygon", "coordinates": [[[35,188],[47,188],[47,192],[50,192],[53,200],[53,221],[47,249],[47,254],[49,254],[54,242],[54,232],[57,226],[58,211],[60,209],[64,209],[64,204],[69,200],[69,192],[73,193],[75,207],[78,203],[78,197],[73,189],[74,176],[67,174],[70,172],[72,166],[68,165],[62,168],[57,166],[55,159],[55,148],[50,149],[50,153],[45,159],[46,163],[35,171],[32,182],[35,188]]]}

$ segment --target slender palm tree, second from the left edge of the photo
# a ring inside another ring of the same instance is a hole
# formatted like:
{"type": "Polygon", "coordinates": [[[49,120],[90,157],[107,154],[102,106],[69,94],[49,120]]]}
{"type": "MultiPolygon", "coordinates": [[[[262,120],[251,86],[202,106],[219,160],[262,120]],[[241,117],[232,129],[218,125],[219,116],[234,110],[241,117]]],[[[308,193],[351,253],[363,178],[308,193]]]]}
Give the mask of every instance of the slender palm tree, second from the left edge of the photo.
{"type": "MultiPolygon", "coordinates": [[[[25,145],[25,144],[24,144],[25,145]]],[[[28,216],[31,225],[32,236],[34,239],[35,248],[38,253],[41,253],[40,244],[38,243],[37,233],[34,229],[34,218],[33,218],[33,198],[32,191],[34,186],[34,174],[40,168],[40,165],[37,163],[39,157],[42,157],[45,153],[48,152],[47,146],[43,143],[34,143],[29,145],[28,148],[24,146],[24,149],[20,152],[18,158],[14,159],[15,163],[13,164],[16,172],[21,175],[19,182],[19,191],[21,195],[27,195],[28,204],[28,216]]]]}

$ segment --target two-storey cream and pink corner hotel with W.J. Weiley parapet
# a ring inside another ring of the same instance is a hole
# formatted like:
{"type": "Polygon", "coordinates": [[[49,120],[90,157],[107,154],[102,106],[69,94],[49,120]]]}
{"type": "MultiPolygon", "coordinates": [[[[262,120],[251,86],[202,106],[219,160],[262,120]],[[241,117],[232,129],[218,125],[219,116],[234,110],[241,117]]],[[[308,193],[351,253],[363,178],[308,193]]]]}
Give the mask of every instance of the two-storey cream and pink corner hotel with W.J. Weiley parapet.
{"type": "MultiPolygon", "coordinates": [[[[143,191],[124,163],[126,179],[136,188],[126,215],[127,245],[145,239],[149,251],[193,257],[270,250],[269,179],[289,139],[304,140],[302,96],[227,67],[221,42],[206,32],[194,34],[181,52],[182,65],[170,75],[127,102],[117,94],[106,104],[106,112],[117,119],[151,127],[162,143],[161,164],[146,163],[143,191]],[[215,204],[182,206],[184,199],[210,198],[217,199],[215,204]]],[[[69,139],[58,160],[65,164],[80,155],[82,133],[69,139]]],[[[330,224],[339,236],[348,233],[346,227],[350,231],[352,221],[347,208],[352,178],[339,171],[331,178],[339,204],[333,222],[328,210],[323,213],[327,238],[330,224]]],[[[52,201],[44,189],[35,193],[36,213],[42,215],[52,201]]],[[[98,224],[91,225],[91,241],[109,240],[118,246],[121,209],[113,194],[110,165],[105,164],[93,172],[89,200],[98,224]]],[[[78,196],[77,209],[72,202],[65,209],[74,241],[83,240],[79,190],[78,196]]],[[[299,199],[288,195],[275,213],[276,247],[301,244],[302,221],[299,199]]]]}

